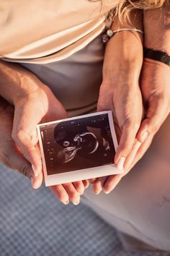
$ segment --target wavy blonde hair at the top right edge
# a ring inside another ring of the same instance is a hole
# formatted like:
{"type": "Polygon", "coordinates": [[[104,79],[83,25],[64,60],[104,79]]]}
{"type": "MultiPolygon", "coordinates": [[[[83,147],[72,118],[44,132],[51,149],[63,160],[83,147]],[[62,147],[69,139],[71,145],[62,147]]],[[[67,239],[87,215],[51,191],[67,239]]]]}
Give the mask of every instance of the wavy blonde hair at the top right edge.
{"type": "MultiPolygon", "coordinates": [[[[89,1],[102,1],[102,4],[107,4],[107,0],[89,1]]],[[[170,5],[170,0],[118,0],[115,8],[109,11],[108,20],[112,21],[118,17],[120,23],[127,24],[130,22],[130,12],[134,9],[156,9],[162,7],[163,4],[170,5]]]]}

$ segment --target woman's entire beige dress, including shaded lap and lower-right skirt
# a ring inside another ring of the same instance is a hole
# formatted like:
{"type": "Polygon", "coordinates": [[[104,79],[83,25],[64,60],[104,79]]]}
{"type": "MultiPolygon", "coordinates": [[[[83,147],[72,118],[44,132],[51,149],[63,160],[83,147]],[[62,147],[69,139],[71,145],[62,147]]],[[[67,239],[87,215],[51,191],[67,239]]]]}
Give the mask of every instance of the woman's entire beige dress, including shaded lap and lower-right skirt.
{"type": "MultiPolygon", "coordinates": [[[[112,1],[101,6],[86,0],[0,0],[1,59],[20,62],[37,74],[71,116],[93,111],[102,82],[101,33],[111,6],[112,1]]],[[[86,203],[105,221],[168,251],[169,127],[170,116],[140,163],[112,193],[85,193],[86,203]]]]}

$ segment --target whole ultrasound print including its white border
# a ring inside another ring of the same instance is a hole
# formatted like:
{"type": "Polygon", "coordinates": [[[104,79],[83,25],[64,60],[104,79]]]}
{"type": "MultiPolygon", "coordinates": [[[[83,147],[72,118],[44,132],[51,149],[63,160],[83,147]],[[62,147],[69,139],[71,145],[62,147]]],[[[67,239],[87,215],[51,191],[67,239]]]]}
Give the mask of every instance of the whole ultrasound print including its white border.
{"type": "Polygon", "coordinates": [[[112,111],[37,125],[45,185],[121,174],[112,111]]]}

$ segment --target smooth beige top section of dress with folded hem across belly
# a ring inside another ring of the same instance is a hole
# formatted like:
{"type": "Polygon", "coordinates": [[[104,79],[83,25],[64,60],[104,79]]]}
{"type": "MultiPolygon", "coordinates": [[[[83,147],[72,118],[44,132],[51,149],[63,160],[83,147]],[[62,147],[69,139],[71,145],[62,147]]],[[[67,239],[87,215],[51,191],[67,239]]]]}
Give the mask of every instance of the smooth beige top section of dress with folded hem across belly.
{"type": "Polygon", "coordinates": [[[47,64],[84,48],[116,0],[0,0],[0,58],[47,64]]]}

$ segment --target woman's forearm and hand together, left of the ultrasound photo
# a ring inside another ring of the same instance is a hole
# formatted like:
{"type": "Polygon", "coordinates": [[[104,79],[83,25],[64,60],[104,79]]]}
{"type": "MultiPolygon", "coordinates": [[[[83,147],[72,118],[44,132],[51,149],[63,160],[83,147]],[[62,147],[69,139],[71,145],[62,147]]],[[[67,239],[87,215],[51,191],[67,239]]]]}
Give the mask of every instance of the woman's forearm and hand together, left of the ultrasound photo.
{"type": "MultiPolygon", "coordinates": [[[[67,117],[66,110],[48,86],[24,67],[0,61],[0,76],[0,94],[14,105],[10,138],[14,140],[20,155],[32,166],[32,187],[38,188],[42,183],[42,161],[37,144],[36,125],[40,122],[64,119],[67,117]]],[[[80,195],[88,184],[88,181],[80,181],[53,186],[51,189],[63,203],[67,204],[68,200],[71,200],[78,204],[80,195]]]]}

